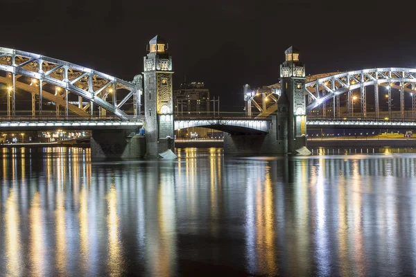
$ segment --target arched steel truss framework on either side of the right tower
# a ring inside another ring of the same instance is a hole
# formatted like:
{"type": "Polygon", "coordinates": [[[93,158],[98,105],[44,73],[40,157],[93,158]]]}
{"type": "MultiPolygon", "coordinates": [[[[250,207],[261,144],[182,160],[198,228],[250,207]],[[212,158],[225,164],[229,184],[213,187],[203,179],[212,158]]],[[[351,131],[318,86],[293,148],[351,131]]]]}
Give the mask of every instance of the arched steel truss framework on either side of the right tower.
{"type": "MultiPolygon", "coordinates": [[[[412,114],[416,117],[416,69],[408,68],[378,68],[378,69],[363,69],[360,71],[348,71],[342,73],[324,73],[319,75],[309,75],[306,77],[306,102],[307,111],[311,111],[317,107],[325,107],[330,100],[333,100],[333,117],[340,116],[340,100],[339,96],[343,93],[348,93],[351,96],[351,91],[357,90],[360,95],[361,114],[367,116],[367,87],[374,87],[374,116],[380,116],[380,99],[379,86],[386,87],[388,90],[388,111],[392,111],[392,96],[391,89],[399,89],[400,91],[400,112],[401,118],[404,118],[404,93],[412,93],[412,114]]],[[[252,90],[248,85],[244,86],[244,100],[246,101],[246,113],[251,116],[252,104],[257,107],[259,116],[268,116],[277,110],[277,100],[280,96],[280,84],[272,84],[262,89],[252,90]],[[262,96],[263,105],[257,104],[254,98],[262,96]],[[270,95],[275,95],[270,97],[270,95]],[[266,100],[264,100],[266,99],[266,100]],[[272,100],[272,101],[270,101],[272,100]],[[267,104],[266,102],[269,102],[267,104]]],[[[350,112],[350,98],[347,101],[347,110],[350,112]]]]}

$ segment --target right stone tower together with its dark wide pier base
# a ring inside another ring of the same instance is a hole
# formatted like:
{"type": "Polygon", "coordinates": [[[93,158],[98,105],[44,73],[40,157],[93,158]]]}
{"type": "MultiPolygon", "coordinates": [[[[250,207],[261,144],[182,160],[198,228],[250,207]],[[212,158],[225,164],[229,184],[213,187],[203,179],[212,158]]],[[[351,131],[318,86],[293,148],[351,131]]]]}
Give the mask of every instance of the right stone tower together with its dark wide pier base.
{"type": "Polygon", "coordinates": [[[306,148],[306,78],[299,54],[293,47],[285,52],[280,66],[281,96],[268,134],[225,134],[226,154],[311,154],[306,148]]]}

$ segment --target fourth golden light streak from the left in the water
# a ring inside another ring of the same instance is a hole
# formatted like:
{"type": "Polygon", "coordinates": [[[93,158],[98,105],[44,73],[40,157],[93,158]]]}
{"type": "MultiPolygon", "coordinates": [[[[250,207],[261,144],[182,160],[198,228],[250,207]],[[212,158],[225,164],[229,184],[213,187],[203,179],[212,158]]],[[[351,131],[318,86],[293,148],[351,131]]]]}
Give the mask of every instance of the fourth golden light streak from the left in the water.
{"type": "Polygon", "coordinates": [[[86,273],[89,265],[89,229],[88,229],[88,190],[85,184],[80,191],[80,260],[86,273]]]}

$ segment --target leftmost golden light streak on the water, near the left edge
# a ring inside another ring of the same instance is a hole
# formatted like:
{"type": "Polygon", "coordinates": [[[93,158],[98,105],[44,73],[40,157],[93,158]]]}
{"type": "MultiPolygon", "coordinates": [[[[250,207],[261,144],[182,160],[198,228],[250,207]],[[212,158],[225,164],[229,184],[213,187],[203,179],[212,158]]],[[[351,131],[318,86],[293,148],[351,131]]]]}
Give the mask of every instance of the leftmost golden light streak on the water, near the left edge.
{"type": "MultiPolygon", "coordinates": [[[[16,202],[17,195],[15,190],[10,189],[8,199],[6,200],[6,213],[4,215],[4,224],[6,230],[6,276],[21,275],[22,257],[19,230],[20,220],[16,202]]],[[[0,249],[0,251],[3,252],[3,249],[0,249]]]]}

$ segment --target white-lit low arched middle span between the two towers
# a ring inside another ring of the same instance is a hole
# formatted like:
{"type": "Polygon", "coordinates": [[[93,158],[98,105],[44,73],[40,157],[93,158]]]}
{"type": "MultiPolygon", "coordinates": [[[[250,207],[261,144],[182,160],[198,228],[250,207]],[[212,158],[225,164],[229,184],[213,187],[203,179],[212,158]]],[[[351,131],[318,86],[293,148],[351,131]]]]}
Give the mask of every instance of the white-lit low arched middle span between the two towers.
{"type": "Polygon", "coordinates": [[[175,120],[175,131],[189,127],[205,127],[229,134],[268,134],[269,124],[268,120],[175,120]]]}

